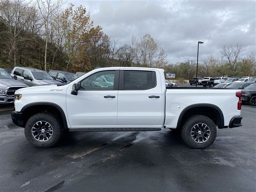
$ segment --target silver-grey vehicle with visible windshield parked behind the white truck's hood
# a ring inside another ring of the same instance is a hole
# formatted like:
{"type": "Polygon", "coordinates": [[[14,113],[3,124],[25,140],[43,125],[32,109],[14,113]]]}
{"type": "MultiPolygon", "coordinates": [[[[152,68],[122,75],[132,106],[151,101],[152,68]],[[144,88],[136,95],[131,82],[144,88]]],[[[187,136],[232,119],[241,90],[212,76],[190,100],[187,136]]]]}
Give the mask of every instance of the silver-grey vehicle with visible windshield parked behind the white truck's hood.
{"type": "Polygon", "coordinates": [[[14,67],[11,76],[17,76],[17,80],[23,82],[27,86],[42,84],[58,84],[47,72],[29,67],[14,67]]]}

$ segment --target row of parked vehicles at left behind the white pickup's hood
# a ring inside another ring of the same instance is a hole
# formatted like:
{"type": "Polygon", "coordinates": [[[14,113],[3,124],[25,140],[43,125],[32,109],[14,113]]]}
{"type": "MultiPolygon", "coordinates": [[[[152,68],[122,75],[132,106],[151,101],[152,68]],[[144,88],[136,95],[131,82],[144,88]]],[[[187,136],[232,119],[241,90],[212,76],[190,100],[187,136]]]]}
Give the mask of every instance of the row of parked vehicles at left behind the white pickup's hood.
{"type": "Polygon", "coordinates": [[[15,67],[13,70],[0,68],[0,104],[14,102],[14,93],[20,88],[45,84],[68,84],[83,74],[85,72],[74,74],[58,70],[50,70],[47,73],[44,70],[28,67],[15,67]]]}

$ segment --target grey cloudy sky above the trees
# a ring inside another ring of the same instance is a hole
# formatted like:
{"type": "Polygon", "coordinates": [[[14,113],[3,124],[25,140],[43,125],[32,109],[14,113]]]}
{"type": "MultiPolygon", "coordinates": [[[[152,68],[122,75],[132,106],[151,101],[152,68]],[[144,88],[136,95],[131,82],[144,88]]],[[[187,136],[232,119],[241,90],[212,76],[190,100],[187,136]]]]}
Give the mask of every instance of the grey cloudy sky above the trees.
{"type": "Polygon", "coordinates": [[[256,52],[256,1],[85,1],[94,25],[118,40],[130,44],[149,33],[168,54],[169,63],[220,57],[224,45],[240,43],[244,56],[256,52]]]}

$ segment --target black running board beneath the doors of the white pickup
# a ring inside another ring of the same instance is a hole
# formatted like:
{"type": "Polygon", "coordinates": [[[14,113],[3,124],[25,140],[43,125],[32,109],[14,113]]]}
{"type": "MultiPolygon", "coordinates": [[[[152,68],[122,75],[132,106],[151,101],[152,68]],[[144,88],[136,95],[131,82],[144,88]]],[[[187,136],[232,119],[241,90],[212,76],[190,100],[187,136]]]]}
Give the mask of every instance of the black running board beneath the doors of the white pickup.
{"type": "Polygon", "coordinates": [[[69,129],[70,132],[75,131],[160,131],[161,128],[76,128],[69,129]]]}

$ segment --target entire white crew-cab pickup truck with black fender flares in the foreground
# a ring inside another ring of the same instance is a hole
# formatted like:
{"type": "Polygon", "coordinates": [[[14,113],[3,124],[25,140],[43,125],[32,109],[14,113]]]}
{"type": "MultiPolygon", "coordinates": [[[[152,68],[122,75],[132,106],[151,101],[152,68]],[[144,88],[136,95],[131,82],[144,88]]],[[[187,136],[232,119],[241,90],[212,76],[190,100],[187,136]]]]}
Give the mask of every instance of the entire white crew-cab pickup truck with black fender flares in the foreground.
{"type": "Polygon", "coordinates": [[[64,130],[170,128],[191,148],[203,149],[214,142],[216,127],[242,126],[241,97],[233,89],[166,88],[162,69],[98,68],[66,85],[17,90],[12,121],[40,148],[56,144],[64,130]]]}

